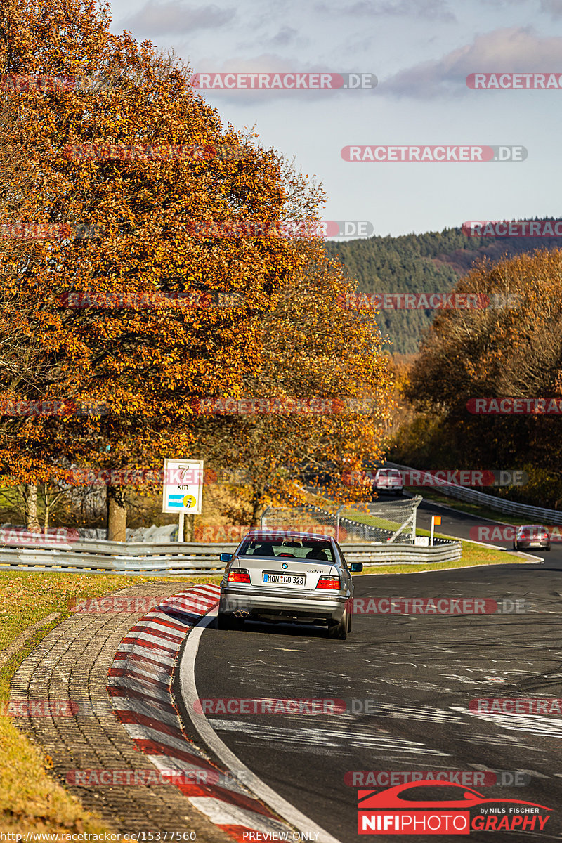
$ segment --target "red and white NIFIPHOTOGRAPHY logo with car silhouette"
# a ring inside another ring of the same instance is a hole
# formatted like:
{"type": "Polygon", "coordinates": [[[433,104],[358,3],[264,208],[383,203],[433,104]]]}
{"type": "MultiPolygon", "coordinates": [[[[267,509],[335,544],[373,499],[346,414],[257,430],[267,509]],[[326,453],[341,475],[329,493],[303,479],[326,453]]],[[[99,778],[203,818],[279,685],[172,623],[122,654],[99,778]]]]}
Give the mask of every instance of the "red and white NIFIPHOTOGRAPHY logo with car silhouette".
{"type": "Polygon", "coordinates": [[[543,831],[551,808],[522,799],[487,798],[462,785],[417,781],[380,792],[360,790],[360,835],[469,835],[471,831],[543,831]],[[428,787],[439,787],[436,798],[428,787]],[[442,793],[447,792],[448,798],[442,793]]]}

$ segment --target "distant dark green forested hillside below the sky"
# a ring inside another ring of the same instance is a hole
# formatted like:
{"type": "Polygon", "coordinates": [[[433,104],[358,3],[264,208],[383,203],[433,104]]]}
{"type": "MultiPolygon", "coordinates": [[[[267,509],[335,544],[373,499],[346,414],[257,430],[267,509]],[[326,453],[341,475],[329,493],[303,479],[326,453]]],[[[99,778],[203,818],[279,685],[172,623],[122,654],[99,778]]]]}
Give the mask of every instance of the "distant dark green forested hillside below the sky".
{"type": "MultiPolygon", "coordinates": [[[[536,249],[562,247],[561,237],[468,237],[461,228],[442,232],[372,237],[327,244],[364,293],[447,293],[475,261],[499,260],[536,249]]],[[[384,310],[377,322],[393,352],[418,350],[432,310],[384,310]]]]}

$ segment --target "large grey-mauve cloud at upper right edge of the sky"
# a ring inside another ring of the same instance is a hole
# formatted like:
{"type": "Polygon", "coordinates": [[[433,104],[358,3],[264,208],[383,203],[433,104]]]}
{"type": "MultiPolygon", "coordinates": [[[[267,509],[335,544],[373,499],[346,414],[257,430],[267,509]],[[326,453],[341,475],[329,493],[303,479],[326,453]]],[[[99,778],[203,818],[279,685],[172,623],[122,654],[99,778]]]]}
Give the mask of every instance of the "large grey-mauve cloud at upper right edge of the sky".
{"type": "Polygon", "coordinates": [[[533,27],[511,27],[477,35],[472,44],[441,59],[379,79],[378,93],[430,99],[468,92],[469,73],[562,72],[562,37],[538,35],[533,27]]]}

